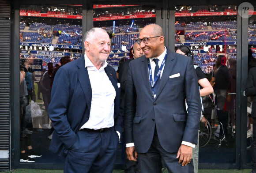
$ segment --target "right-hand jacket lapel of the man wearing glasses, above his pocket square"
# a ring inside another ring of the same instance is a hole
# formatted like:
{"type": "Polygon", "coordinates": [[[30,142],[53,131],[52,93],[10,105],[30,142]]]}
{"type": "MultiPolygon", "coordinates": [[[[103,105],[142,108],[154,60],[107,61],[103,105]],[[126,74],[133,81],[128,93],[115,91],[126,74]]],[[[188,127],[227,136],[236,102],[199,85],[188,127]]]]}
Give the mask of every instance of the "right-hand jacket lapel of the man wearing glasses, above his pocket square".
{"type": "Polygon", "coordinates": [[[159,84],[158,94],[156,95],[155,99],[158,98],[158,95],[162,92],[163,88],[165,87],[165,85],[169,79],[169,75],[171,74],[171,71],[173,69],[174,59],[175,59],[174,54],[169,51],[167,53],[166,64],[164,67],[164,71],[162,73],[161,82],[159,84]]]}

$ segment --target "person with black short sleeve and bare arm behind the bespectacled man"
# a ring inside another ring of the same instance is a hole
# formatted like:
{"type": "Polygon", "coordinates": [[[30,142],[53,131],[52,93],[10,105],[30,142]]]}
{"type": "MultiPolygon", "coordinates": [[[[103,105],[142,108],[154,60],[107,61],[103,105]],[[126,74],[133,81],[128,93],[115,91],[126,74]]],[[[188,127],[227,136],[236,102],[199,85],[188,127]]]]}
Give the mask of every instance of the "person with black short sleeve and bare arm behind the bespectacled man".
{"type": "MultiPolygon", "coordinates": [[[[194,61],[193,53],[191,49],[186,45],[179,46],[175,52],[185,56],[189,56],[194,61]]],[[[196,69],[199,89],[202,88],[200,89],[200,96],[202,97],[202,96],[206,96],[213,93],[213,88],[211,87],[211,84],[209,83],[209,81],[206,79],[206,76],[204,75],[202,69],[197,65],[194,65],[194,68],[196,69]]],[[[202,111],[203,111],[203,108],[202,108],[202,111]]],[[[202,111],[201,111],[201,121],[205,123],[205,126],[206,126],[207,120],[205,119],[205,117],[203,117],[202,111]]],[[[199,138],[197,140],[197,143],[199,143],[199,138]]],[[[199,156],[199,145],[196,145],[196,147],[193,148],[193,154],[192,154],[192,159],[194,164],[194,173],[198,172],[198,156],[199,156]]]]}

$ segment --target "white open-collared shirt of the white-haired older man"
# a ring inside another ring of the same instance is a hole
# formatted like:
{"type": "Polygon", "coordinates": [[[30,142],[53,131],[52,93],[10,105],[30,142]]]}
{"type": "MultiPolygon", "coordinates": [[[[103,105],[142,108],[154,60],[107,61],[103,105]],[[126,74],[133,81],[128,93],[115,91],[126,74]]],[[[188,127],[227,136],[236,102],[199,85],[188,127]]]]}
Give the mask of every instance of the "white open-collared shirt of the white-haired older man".
{"type": "Polygon", "coordinates": [[[97,130],[113,127],[116,90],[104,70],[107,62],[103,62],[102,67],[97,70],[86,54],[84,54],[84,59],[85,68],[87,68],[90,78],[92,98],[89,120],[80,129],[91,128],[97,130]]]}

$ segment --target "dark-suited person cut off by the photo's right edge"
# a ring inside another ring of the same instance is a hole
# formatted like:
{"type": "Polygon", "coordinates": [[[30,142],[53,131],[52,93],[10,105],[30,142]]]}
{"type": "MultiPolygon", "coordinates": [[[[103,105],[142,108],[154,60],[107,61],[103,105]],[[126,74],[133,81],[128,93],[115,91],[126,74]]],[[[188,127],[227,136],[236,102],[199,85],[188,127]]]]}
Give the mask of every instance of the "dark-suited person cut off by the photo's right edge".
{"type": "Polygon", "coordinates": [[[252,96],[252,172],[256,173],[256,67],[250,68],[246,86],[245,86],[245,95],[252,96]]]}

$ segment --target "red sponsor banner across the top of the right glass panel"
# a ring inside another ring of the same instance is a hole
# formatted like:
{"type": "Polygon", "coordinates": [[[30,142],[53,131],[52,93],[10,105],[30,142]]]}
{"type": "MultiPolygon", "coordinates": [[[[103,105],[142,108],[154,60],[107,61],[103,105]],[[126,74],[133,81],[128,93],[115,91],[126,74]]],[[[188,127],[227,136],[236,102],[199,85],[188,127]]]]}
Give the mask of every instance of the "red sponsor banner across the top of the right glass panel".
{"type": "Polygon", "coordinates": [[[203,12],[203,13],[175,13],[175,17],[187,16],[215,16],[215,15],[237,15],[237,11],[232,12],[203,12]]]}

